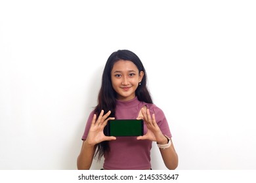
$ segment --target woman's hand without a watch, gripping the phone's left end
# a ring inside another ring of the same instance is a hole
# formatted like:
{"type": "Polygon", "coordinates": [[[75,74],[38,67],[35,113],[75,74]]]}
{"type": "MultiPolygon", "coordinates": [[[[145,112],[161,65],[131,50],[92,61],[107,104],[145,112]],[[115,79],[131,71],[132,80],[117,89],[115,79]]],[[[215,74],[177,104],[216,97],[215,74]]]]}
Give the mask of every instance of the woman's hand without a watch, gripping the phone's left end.
{"type": "Polygon", "coordinates": [[[89,129],[89,133],[86,139],[87,143],[90,144],[91,146],[95,146],[95,144],[98,144],[102,141],[116,140],[116,137],[108,137],[103,133],[103,129],[108,124],[108,120],[115,119],[112,117],[108,118],[110,113],[111,111],[108,111],[106,114],[104,114],[104,110],[101,110],[97,120],[96,114],[93,115],[93,121],[91,122],[91,127],[89,129]]]}

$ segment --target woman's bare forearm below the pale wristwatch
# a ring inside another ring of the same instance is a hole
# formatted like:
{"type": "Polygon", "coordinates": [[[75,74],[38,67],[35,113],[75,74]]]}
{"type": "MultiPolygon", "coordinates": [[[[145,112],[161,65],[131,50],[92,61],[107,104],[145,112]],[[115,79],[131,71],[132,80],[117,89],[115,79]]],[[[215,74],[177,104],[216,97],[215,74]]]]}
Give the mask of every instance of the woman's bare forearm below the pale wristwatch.
{"type": "Polygon", "coordinates": [[[171,146],[169,148],[166,148],[164,150],[160,148],[160,152],[167,169],[174,170],[178,167],[178,155],[175,151],[173,143],[171,143],[171,146]]]}

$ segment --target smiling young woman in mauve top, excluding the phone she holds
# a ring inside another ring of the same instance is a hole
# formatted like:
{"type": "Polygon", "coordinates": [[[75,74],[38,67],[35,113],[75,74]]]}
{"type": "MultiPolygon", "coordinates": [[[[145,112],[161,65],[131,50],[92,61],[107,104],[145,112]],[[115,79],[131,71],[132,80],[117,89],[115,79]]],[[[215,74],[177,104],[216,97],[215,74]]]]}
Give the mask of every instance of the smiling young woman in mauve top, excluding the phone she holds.
{"type": "Polygon", "coordinates": [[[104,169],[151,169],[150,150],[156,142],[167,169],[176,169],[178,156],[163,111],[153,104],[146,71],[129,50],[110,55],[104,67],[98,105],[87,120],[77,169],[90,169],[93,158],[104,156],[104,169]],[[144,135],[108,137],[108,120],[143,119],[144,135]]]}

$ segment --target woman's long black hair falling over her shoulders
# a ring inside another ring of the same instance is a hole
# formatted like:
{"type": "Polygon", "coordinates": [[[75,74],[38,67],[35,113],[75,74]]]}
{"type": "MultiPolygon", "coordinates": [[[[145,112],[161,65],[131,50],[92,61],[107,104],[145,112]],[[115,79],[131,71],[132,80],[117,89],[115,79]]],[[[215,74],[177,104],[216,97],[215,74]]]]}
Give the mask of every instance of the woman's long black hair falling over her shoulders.
{"type": "MultiPolygon", "coordinates": [[[[104,71],[102,74],[102,84],[100,91],[98,93],[98,105],[95,107],[95,114],[98,116],[101,110],[104,110],[104,114],[111,111],[110,116],[116,116],[116,96],[117,93],[112,87],[111,81],[111,71],[113,69],[114,63],[119,60],[128,60],[132,61],[138,68],[139,73],[140,71],[144,72],[144,76],[138,86],[137,90],[135,91],[135,95],[139,99],[139,101],[144,101],[145,103],[153,103],[152,97],[150,96],[150,92],[146,87],[146,71],[142,62],[140,61],[139,57],[129,51],[129,50],[117,50],[113,52],[108,60],[106,61],[106,65],[104,67],[104,71]]],[[[109,151],[108,141],[100,142],[97,145],[96,155],[98,154],[98,159],[102,158],[105,152],[109,151]]]]}

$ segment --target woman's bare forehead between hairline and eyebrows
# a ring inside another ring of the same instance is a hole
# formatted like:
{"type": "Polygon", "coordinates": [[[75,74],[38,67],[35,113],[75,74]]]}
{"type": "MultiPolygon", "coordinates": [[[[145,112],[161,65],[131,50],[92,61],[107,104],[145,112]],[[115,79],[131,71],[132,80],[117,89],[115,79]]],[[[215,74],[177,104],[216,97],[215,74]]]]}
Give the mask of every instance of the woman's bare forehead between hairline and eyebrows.
{"type": "Polygon", "coordinates": [[[122,72],[122,71],[139,71],[137,66],[129,60],[119,60],[114,63],[112,72],[122,72]]]}

